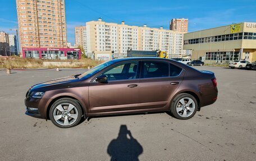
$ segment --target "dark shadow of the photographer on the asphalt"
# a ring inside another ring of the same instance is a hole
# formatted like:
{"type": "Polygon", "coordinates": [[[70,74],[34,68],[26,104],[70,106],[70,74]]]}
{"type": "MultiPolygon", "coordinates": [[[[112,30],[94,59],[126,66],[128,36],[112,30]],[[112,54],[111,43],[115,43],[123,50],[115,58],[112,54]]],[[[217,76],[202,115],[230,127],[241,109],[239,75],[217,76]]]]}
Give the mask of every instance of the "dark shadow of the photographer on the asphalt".
{"type": "Polygon", "coordinates": [[[143,153],[143,148],[132,137],[131,131],[127,130],[127,126],[121,125],[117,139],[113,139],[109,143],[107,153],[111,157],[111,161],[139,160],[138,157],[143,153]]]}

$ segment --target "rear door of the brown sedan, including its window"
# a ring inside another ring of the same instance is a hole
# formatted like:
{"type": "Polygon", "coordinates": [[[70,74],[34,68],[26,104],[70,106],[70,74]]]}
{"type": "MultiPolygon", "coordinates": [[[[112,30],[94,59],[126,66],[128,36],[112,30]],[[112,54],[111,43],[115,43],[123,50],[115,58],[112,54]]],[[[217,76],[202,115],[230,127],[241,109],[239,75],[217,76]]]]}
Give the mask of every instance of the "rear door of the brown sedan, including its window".
{"type": "Polygon", "coordinates": [[[139,108],[162,108],[181,84],[182,68],[163,61],[141,63],[139,108]]]}

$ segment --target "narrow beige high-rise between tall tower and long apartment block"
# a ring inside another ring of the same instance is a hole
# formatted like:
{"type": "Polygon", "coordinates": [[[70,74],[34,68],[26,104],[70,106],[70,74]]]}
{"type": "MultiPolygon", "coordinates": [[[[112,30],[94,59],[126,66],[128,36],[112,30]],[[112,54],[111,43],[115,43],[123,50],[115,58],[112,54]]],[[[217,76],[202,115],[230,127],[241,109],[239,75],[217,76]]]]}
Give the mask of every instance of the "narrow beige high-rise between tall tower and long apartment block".
{"type": "Polygon", "coordinates": [[[75,27],[75,47],[86,49],[86,26],[75,27]]]}

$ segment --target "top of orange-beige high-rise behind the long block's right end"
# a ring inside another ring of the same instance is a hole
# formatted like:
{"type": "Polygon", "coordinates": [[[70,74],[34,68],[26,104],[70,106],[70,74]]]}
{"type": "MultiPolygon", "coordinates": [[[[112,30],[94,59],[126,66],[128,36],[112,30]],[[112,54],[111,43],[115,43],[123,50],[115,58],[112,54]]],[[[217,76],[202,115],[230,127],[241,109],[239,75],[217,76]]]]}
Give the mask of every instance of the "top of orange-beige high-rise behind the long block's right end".
{"type": "Polygon", "coordinates": [[[170,21],[170,30],[188,33],[189,19],[179,18],[170,21]]]}

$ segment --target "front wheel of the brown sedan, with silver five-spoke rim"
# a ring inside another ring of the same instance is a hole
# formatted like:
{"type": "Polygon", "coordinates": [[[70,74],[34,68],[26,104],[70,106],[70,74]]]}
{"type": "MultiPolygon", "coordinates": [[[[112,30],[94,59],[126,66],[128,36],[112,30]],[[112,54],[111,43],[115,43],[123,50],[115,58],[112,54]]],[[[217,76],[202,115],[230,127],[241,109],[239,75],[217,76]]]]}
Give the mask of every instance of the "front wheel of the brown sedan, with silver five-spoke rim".
{"type": "Polygon", "coordinates": [[[56,102],[54,102],[52,104],[52,107],[50,108],[50,111],[49,111],[49,117],[50,117],[52,123],[55,126],[61,127],[61,128],[69,128],[69,127],[76,126],[80,122],[82,115],[83,115],[83,113],[82,113],[80,104],[77,102],[77,100],[74,100],[71,98],[61,98],[61,99],[56,100],[56,102]],[[74,107],[72,107],[72,109],[70,111],[68,111],[69,105],[74,106],[74,107]],[[58,109],[58,108],[60,108],[60,106],[62,107],[63,111],[60,111],[58,109]],[[57,118],[54,119],[54,116],[55,117],[63,116],[63,117],[56,120],[57,118]],[[74,116],[76,118],[73,118],[74,116]],[[68,125],[65,125],[66,124],[65,119],[67,119],[68,125]]]}

